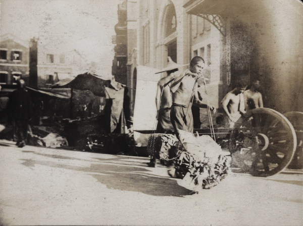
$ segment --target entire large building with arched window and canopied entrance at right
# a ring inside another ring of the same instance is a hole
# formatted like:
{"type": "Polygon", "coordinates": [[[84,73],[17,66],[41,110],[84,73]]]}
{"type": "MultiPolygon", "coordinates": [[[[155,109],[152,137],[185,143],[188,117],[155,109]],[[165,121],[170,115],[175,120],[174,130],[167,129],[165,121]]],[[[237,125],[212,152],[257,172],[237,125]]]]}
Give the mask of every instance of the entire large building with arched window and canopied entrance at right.
{"type": "MultiPolygon", "coordinates": [[[[217,108],[237,80],[260,77],[266,107],[303,111],[303,4],[282,2],[138,0],[128,80],[135,81],[136,65],[162,69],[168,56],[188,64],[199,55],[206,62],[209,100],[217,108]]],[[[204,109],[199,115],[201,122],[207,119],[204,109]]]]}

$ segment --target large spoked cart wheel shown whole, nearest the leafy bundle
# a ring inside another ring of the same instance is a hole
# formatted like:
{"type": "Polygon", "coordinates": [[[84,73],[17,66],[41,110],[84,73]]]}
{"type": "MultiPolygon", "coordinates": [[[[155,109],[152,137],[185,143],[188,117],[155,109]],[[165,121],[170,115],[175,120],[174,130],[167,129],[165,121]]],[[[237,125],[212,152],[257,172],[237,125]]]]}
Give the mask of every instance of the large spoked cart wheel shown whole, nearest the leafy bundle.
{"type": "Polygon", "coordinates": [[[230,135],[232,165],[253,176],[268,177],[282,171],[296,148],[291,123],[270,108],[249,110],[230,135]]]}

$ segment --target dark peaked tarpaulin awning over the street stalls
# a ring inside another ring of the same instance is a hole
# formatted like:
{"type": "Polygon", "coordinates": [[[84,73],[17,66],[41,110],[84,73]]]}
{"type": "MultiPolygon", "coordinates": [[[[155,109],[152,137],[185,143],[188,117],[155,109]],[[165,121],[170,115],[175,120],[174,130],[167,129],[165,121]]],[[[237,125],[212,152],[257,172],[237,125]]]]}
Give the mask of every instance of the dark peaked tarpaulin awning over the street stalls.
{"type": "Polygon", "coordinates": [[[98,75],[87,72],[77,75],[75,78],[61,80],[51,86],[51,88],[90,90],[94,95],[103,97],[106,96],[105,87],[120,90],[123,88],[123,84],[112,80],[104,80],[98,75]]]}

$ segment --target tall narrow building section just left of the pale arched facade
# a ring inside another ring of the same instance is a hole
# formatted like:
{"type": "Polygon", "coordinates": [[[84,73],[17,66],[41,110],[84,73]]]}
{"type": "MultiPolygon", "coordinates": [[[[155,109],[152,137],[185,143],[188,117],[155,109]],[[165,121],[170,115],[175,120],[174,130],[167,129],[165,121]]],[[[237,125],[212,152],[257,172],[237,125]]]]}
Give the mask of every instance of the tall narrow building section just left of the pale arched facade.
{"type": "Polygon", "coordinates": [[[139,15],[137,2],[137,0],[120,0],[118,23],[115,26],[116,36],[113,37],[113,44],[116,46],[112,74],[116,81],[131,87],[125,89],[126,118],[133,116],[135,99],[136,73],[134,69],[137,57],[137,19],[139,15]]]}

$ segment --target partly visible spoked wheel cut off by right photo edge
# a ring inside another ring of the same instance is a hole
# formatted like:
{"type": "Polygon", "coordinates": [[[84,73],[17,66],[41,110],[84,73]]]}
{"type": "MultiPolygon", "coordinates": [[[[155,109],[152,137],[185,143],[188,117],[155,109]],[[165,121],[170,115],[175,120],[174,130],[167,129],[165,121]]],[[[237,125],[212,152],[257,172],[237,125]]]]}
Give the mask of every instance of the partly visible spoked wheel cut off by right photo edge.
{"type": "Polygon", "coordinates": [[[293,126],[297,138],[296,151],[288,168],[300,169],[303,168],[303,112],[291,111],[285,113],[284,116],[293,126]]]}

